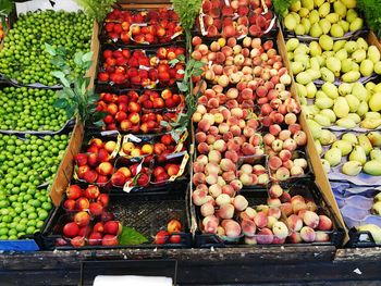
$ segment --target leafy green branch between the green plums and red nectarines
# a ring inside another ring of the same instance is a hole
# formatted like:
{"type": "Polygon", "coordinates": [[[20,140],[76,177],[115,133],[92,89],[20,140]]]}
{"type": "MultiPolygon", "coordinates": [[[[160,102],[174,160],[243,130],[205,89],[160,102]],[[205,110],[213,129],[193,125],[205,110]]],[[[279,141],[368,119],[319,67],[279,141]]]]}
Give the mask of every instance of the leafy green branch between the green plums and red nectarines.
{"type": "MultiPolygon", "coordinates": [[[[45,43],[47,52],[52,57],[51,63],[59,71],[51,74],[59,78],[63,88],[58,91],[56,108],[64,109],[69,119],[78,115],[84,125],[94,123],[101,125],[103,114],[96,112],[98,96],[93,88],[88,88],[90,78],[86,76],[73,76],[71,67],[66,64],[66,50],[63,47],[54,49],[49,43],[45,43]]],[[[93,52],[82,51],[74,54],[74,63],[77,67],[87,71],[91,64],[93,52]]]]}

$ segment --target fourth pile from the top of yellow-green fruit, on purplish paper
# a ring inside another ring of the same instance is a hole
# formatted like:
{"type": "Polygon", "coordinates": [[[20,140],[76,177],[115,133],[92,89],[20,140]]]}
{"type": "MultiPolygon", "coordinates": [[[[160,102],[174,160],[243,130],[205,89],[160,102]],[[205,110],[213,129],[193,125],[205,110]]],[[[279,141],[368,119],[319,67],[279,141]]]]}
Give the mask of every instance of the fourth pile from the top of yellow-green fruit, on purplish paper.
{"type": "Polygon", "coordinates": [[[360,172],[372,176],[381,176],[381,133],[368,134],[344,133],[340,138],[328,129],[321,130],[321,136],[316,140],[320,154],[322,146],[330,146],[321,159],[327,173],[331,167],[341,165],[343,174],[357,176],[360,172]],[[343,162],[343,158],[346,158],[343,162]]]}

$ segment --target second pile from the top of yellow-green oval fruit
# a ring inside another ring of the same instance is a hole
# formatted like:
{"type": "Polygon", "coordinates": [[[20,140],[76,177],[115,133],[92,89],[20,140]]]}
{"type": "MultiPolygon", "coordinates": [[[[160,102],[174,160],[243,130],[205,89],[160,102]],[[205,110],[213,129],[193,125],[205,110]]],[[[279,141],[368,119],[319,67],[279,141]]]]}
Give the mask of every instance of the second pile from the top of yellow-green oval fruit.
{"type": "Polygon", "coordinates": [[[312,84],[351,84],[381,73],[380,51],[361,37],[333,41],[323,35],[319,41],[310,43],[292,38],[286,48],[295,80],[306,88],[308,86],[310,97],[315,92],[312,84]]]}

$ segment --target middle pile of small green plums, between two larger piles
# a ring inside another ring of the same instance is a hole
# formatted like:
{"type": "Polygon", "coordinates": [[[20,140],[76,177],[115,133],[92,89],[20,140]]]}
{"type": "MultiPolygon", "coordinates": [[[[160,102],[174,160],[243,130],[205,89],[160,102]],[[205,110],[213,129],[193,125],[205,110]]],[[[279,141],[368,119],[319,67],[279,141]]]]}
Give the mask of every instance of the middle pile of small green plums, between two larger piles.
{"type": "Polygon", "coordinates": [[[67,117],[53,107],[53,90],[5,87],[0,90],[0,129],[17,132],[58,132],[67,117]]]}

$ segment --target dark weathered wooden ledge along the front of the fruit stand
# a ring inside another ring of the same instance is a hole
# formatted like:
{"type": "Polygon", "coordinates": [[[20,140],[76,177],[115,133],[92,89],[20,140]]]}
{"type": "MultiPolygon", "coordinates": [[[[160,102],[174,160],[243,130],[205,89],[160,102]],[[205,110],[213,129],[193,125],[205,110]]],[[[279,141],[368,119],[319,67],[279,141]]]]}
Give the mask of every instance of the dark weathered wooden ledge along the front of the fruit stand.
{"type": "MultiPolygon", "coordinates": [[[[381,249],[339,249],[333,247],[53,251],[3,253],[1,285],[23,285],[27,279],[39,285],[78,285],[84,261],[118,261],[172,259],[177,261],[179,285],[253,285],[254,283],[353,282],[377,285],[381,249]],[[216,273],[214,275],[212,273],[216,273]],[[356,282],[355,282],[356,281],[356,282]],[[377,283],[377,282],[373,282],[377,283]]],[[[105,266],[107,262],[105,263],[105,266]]],[[[126,273],[127,274],[127,273],[126,273]]],[[[86,275],[94,275],[87,273],[86,275]]],[[[88,281],[84,285],[91,285],[88,281]]]]}

